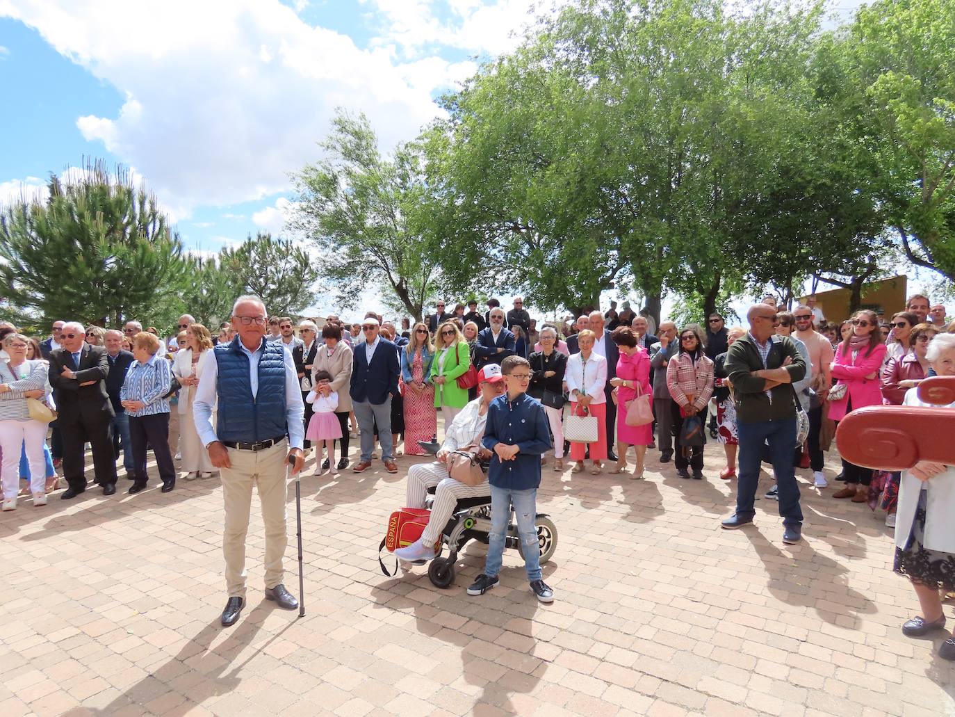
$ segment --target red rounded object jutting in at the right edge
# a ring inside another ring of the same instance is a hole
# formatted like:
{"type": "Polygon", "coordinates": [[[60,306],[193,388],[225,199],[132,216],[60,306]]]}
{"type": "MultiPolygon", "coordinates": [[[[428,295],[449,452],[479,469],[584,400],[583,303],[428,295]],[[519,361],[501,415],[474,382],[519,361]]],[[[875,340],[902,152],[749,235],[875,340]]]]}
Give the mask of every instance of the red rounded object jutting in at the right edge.
{"type": "MultiPolygon", "coordinates": [[[[919,384],[919,398],[955,402],[955,378],[934,376],[919,384]]],[[[907,405],[859,408],[838,424],[839,455],[857,466],[905,470],[919,461],[955,465],[955,411],[907,405]]]]}

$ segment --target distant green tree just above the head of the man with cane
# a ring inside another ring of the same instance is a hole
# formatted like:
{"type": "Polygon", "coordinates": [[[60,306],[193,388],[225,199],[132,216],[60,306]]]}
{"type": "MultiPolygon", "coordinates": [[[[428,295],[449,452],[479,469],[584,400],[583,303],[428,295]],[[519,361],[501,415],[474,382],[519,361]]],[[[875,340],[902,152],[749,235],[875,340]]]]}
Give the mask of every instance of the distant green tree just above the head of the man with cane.
{"type": "MultiPolygon", "coordinates": [[[[234,287],[226,304],[222,295],[215,299],[219,311],[231,311],[232,302],[240,293],[252,293],[265,302],[269,315],[298,315],[315,300],[314,270],[308,251],[289,239],[273,238],[258,232],[234,249],[219,253],[219,265],[206,264],[205,271],[217,282],[214,286],[227,292],[234,287]]],[[[213,289],[213,291],[217,291],[213,289]]]]}

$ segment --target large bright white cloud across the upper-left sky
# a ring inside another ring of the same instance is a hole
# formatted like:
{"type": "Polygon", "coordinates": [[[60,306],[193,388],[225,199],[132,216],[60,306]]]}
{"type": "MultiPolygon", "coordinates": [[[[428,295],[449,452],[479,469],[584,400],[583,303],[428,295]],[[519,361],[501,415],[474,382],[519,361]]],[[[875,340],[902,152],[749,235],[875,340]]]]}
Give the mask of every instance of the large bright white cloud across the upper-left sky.
{"type": "MultiPolygon", "coordinates": [[[[386,22],[415,14],[406,3],[377,5],[386,22]]],[[[447,37],[446,24],[415,18],[399,34],[407,47],[447,39],[498,52],[528,5],[455,0],[447,37]]],[[[338,106],[365,112],[385,149],[413,138],[439,112],[435,91],[475,69],[434,52],[404,61],[394,46],[358,48],[347,35],[309,27],[279,0],[0,0],[0,15],[35,28],[124,94],[115,116],[86,115],[76,126],[135,166],[180,219],[196,206],[286,191],[287,173],[317,159],[338,106]]]]}

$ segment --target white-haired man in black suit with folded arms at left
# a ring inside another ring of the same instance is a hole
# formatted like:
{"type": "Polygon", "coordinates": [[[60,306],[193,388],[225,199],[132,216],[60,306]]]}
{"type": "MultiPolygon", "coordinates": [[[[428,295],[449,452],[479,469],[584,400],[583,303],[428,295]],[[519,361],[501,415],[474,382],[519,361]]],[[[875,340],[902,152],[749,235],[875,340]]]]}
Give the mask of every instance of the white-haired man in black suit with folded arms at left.
{"type": "Polygon", "coordinates": [[[86,490],[83,448],[93,448],[96,483],[103,495],[113,495],[117,485],[113,449],[115,413],[106,378],[110,373],[106,349],[86,342],[86,329],[68,321],[60,335],[60,348],[50,354],[50,385],[56,403],[56,423],[63,443],[63,477],[69,488],[60,498],[70,500],[86,490]]]}

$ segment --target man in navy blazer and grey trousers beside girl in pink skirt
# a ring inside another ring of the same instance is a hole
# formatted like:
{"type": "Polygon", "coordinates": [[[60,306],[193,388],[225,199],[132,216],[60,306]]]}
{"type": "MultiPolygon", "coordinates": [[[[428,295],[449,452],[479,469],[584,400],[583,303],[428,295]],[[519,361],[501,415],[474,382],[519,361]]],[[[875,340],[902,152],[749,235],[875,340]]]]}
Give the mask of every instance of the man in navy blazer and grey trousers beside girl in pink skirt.
{"type": "Polygon", "coordinates": [[[374,450],[374,426],[378,426],[381,459],[389,473],[398,472],[392,444],[392,397],[398,393],[398,349],[378,336],[381,326],[376,318],[361,324],[365,340],[356,343],[351,369],[351,402],[361,432],[361,456],[351,469],[361,473],[371,467],[374,450]]]}

